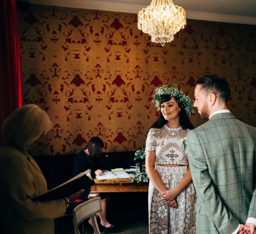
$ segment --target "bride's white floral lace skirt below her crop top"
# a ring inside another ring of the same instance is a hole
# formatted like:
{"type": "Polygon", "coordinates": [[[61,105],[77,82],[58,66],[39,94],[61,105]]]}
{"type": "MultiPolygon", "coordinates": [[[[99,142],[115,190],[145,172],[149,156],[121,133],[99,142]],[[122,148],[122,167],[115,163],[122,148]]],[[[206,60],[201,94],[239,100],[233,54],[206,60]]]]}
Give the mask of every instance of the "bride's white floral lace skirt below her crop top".
{"type": "MultiPolygon", "coordinates": [[[[175,188],[188,171],[188,166],[156,166],[156,171],[168,189],[175,188]]],[[[178,208],[166,205],[158,190],[149,182],[149,233],[194,234],[196,233],[196,190],[190,183],[176,197],[178,208]]]]}

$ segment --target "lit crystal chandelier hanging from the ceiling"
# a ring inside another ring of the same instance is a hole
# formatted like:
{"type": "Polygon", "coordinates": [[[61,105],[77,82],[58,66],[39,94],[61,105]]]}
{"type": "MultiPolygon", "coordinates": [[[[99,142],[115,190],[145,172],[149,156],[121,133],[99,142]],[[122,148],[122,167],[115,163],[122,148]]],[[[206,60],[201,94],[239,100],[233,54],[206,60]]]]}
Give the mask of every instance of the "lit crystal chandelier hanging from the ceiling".
{"type": "Polygon", "coordinates": [[[151,41],[160,43],[173,41],[174,34],[186,25],[186,12],[175,6],[172,0],[152,0],[138,13],[138,28],[151,36],[151,41]]]}

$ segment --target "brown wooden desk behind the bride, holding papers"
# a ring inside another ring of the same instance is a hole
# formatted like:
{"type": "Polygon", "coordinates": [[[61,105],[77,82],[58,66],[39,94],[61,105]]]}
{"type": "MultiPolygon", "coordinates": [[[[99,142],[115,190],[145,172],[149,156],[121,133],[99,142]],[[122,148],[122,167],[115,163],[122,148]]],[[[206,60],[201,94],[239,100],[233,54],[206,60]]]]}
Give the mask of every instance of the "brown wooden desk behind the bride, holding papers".
{"type": "Polygon", "coordinates": [[[149,183],[131,182],[131,179],[94,179],[95,185],[91,186],[88,199],[96,198],[99,193],[119,193],[119,192],[148,192],[149,183]]]}

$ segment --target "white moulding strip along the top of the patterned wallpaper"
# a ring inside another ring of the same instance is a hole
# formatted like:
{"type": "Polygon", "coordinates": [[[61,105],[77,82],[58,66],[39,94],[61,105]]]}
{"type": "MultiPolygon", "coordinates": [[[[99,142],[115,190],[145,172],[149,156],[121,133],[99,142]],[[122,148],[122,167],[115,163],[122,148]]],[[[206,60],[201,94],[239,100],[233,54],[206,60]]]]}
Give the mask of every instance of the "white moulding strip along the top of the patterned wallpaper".
{"type": "MultiPolygon", "coordinates": [[[[82,9],[96,9],[101,11],[125,12],[137,14],[145,5],[127,4],[121,2],[95,1],[95,0],[19,0],[30,4],[53,5],[82,9]]],[[[186,10],[186,9],[185,9],[186,10]]],[[[187,19],[208,20],[235,24],[256,25],[256,17],[215,14],[186,10],[187,19]]]]}

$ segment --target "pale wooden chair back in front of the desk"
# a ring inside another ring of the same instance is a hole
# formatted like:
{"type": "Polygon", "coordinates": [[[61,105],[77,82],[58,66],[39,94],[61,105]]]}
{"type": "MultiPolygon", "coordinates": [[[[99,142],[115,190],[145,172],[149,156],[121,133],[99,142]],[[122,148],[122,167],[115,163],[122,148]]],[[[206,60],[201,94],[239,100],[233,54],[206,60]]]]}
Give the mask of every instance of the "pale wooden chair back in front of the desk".
{"type": "Polygon", "coordinates": [[[79,225],[85,219],[92,218],[92,226],[95,234],[100,234],[100,230],[97,223],[96,214],[101,212],[100,197],[93,198],[89,201],[83,202],[73,210],[73,225],[75,234],[80,234],[79,225]]]}

